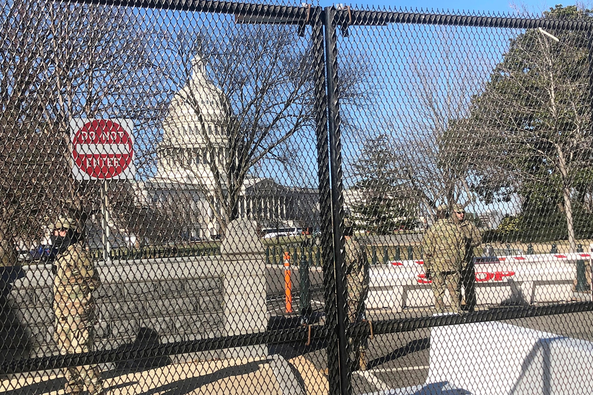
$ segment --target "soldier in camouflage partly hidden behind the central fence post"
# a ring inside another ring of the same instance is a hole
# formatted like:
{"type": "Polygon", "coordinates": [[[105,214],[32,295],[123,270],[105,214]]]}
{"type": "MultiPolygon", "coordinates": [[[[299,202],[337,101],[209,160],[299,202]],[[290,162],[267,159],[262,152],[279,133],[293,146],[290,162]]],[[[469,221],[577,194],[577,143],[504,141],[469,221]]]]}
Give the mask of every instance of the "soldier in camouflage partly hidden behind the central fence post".
{"type": "MultiPolygon", "coordinates": [[[[369,289],[369,264],[361,245],[352,237],[350,222],[347,219],[344,222],[348,320],[350,323],[356,323],[366,321],[365,299],[369,289]]],[[[350,361],[355,365],[352,370],[366,370],[366,349],[368,348],[366,337],[350,337],[350,345],[352,350],[350,361]]]]}

